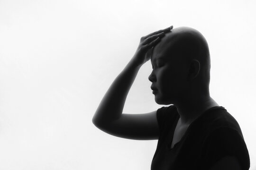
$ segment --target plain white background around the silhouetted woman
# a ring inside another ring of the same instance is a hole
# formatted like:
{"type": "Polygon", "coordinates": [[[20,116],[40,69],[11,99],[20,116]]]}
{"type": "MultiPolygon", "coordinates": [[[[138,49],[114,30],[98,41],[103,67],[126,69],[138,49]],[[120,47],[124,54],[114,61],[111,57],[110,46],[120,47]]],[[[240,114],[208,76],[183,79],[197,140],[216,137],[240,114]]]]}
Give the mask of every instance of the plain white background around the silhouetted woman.
{"type": "MultiPolygon", "coordinates": [[[[157,141],[91,122],[141,36],[174,25],[207,39],[210,94],[240,124],[256,170],[255,0],[0,0],[0,170],[149,170],[157,141]]],[[[139,71],[125,113],[157,110],[139,71]]]]}

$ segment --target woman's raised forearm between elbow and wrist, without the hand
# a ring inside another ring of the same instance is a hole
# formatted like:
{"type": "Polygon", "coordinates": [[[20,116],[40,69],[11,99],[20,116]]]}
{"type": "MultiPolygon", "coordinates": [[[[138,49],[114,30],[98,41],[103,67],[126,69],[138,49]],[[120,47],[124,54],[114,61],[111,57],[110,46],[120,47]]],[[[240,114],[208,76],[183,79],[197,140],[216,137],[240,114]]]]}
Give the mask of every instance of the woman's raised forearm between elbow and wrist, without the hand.
{"type": "Polygon", "coordinates": [[[130,61],[116,77],[93,116],[94,125],[103,126],[122,115],[128,92],[140,67],[130,61]]]}

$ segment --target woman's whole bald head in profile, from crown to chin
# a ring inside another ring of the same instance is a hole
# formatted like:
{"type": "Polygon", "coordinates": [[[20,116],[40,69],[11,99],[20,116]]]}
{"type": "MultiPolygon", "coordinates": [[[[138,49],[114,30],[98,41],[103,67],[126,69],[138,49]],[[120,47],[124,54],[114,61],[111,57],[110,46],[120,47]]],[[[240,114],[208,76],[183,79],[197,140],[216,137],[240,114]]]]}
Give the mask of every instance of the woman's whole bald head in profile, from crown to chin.
{"type": "Polygon", "coordinates": [[[166,33],[152,50],[153,71],[148,77],[155,102],[173,104],[195,95],[209,95],[210,53],[203,35],[190,27],[166,33]]]}

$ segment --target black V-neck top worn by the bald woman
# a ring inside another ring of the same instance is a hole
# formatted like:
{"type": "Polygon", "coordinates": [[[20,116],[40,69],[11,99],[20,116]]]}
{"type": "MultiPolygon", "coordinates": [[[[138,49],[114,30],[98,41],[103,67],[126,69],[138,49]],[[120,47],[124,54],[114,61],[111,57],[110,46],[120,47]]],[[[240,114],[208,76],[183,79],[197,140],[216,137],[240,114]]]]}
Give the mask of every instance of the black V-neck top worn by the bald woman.
{"type": "Polygon", "coordinates": [[[174,105],[157,110],[160,135],[151,170],[208,170],[224,156],[235,156],[242,170],[250,167],[249,153],[236,119],[222,106],[194,120],[171,149],[180,118],[174,105]]]}

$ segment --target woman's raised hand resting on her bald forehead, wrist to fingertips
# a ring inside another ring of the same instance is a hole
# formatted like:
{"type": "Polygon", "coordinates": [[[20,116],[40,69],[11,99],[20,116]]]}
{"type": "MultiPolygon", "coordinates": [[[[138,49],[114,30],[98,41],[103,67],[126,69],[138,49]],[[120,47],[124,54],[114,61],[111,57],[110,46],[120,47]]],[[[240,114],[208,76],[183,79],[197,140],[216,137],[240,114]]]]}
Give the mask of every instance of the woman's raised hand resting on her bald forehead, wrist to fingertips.
{"type": "Polygon", "coordinates": [[[152,48],[160,42],[161,38],[165,36],[165,33],[170,32],[171,29],[173,29],[173,26],[141,37],[137,51],[131,59],[133,64],[141,66],[148,61],[151,57],[152,48]]]}

